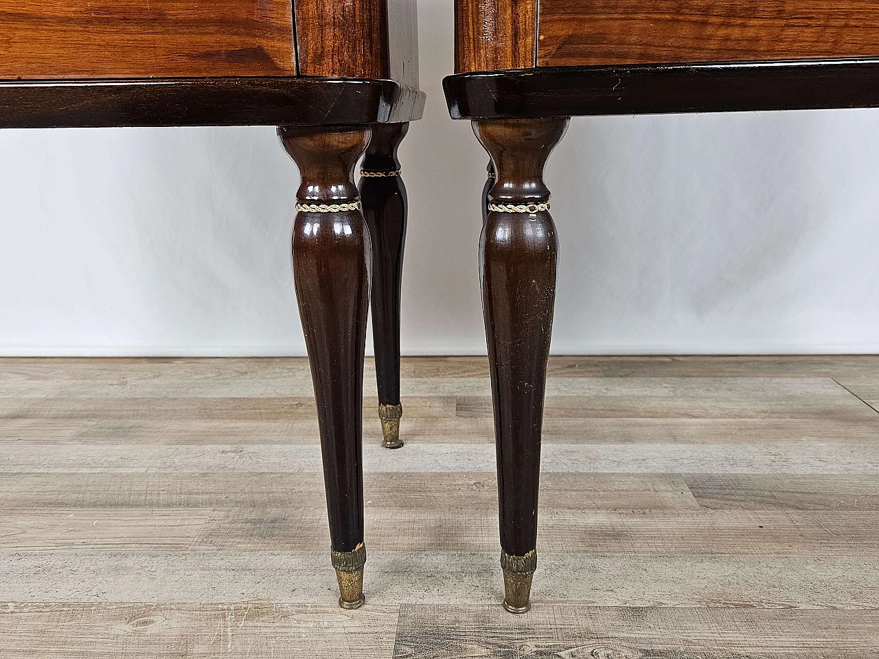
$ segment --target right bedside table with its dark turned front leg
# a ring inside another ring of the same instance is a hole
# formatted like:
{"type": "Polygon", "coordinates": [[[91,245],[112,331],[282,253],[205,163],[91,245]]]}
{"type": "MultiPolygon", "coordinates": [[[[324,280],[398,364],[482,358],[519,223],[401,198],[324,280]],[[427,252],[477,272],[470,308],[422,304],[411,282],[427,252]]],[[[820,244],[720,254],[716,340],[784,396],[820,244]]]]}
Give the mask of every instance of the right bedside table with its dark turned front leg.
{"type": "Polygon", "coordinates": [[[501,566],[506,608],[525,612],[556,293],[542,175],[569,118],[879,106],[879,3],[456,0],[455,55],[449,111],[491,157],[481,272],[501,566]]]}

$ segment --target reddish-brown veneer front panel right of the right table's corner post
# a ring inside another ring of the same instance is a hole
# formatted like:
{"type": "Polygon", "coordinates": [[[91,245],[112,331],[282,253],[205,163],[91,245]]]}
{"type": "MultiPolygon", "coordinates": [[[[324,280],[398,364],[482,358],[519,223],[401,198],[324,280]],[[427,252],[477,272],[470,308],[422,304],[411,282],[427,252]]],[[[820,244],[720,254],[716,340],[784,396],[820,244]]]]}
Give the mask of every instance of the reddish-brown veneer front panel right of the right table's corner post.
{"type": "Polygon", "coordinates": [[[876,0],[541,0],[539,66],[879,55],[876,0]]]}

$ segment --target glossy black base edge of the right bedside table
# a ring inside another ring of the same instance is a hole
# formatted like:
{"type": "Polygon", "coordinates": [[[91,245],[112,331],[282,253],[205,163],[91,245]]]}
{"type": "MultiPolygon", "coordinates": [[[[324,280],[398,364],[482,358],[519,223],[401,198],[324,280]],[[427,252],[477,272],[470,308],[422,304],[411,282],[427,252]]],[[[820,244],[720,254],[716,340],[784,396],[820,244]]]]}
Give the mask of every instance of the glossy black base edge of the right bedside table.
{"type": "Polygon", "coordinates": [[[879,58],[546,67],[447,76],[453,119],[879,106],[879,58]]]}

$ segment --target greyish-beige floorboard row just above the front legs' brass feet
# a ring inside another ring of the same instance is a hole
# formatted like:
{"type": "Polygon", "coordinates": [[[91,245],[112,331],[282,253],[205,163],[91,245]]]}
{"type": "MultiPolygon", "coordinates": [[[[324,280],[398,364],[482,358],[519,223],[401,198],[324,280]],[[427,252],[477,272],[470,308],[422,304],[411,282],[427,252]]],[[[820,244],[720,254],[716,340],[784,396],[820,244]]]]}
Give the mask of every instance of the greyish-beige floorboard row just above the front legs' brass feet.
{"type": "MultiPolygon", "coordinates": [[[[316,551],[330,537],[319,507],[28,509],[0,518],[0,548],[128,551],[316,551]]],[[[541,512],[538,548],[597,554],[879,557],[879,513],[863,511],[541,512]]],[[[367,508],[369,547],[394,552],[491,551],[498,513],[367,508]]]]}

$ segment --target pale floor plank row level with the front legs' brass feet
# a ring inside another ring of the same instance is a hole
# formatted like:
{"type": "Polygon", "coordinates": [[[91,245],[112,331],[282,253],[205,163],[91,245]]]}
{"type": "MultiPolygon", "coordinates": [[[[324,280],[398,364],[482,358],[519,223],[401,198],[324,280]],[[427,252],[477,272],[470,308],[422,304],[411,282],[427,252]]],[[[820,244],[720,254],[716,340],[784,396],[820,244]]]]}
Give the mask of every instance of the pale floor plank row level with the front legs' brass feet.
{"type": "MultiPolygon", "coordinates": [[[[367,544],[367,606],[499,602],[498,551],[383,552],[367,544]]],[[[606,606],[873,610],[873,556],[541,554],[534,601],[606,606]]],[[[329,553],[0,551],[0,602],[334,605],[329,553]]],[[[363,615],[369,615],[364,609],[363,615]]]]}

